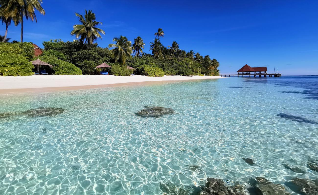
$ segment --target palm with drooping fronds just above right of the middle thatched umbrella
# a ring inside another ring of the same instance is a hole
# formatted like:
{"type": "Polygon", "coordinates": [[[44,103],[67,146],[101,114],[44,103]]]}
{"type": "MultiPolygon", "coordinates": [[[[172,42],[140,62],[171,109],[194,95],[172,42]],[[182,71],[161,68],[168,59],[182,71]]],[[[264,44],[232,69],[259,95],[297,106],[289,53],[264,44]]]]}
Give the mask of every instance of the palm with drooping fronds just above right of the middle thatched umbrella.
{"type": "Polygon", "coordinates": [[[126,36],[114,37],[113,42],[116,44],[109,44],[108,48],[114,48],[110,50],[110,56],[115,62],[120,62],[121,65],[126,63],[127,58],[131,58],[133,50],[131,48],[131,41],[128,41],[126,36]]]}

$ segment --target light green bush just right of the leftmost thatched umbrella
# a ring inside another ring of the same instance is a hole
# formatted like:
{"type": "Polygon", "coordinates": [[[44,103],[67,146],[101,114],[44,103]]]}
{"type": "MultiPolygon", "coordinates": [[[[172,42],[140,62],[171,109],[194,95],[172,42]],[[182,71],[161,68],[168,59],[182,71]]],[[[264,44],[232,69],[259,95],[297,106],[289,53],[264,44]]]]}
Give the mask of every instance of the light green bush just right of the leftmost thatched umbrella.
{"type": "Polygon", "coordinates": [[[40,56],[40,60],[53,66],[54,75],[82,75],[82,71],[74,64],[59,60],[54,55],[40,56]]]}

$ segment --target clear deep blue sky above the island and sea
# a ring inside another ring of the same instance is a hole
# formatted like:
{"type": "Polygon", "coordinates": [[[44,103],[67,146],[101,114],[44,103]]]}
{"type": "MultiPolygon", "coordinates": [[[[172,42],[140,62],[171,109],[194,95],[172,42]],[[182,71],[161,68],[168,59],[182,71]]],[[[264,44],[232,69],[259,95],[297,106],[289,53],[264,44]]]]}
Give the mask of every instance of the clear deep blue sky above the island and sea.
{"type": "MultiPolygon", "coordinates": [[[[24,41],[39,46],[60,38],[72,41],[75,12],[93,10],[106,34],[98,40],[107,47],[114,36],[141,36],[149,42],[162,28],[163,45],[176,41],[180,49],[210,55],[223,74],[243,65],[278,68],[283,75],[318,75],[318,1],[108,1],[43,0],[45,16],[24,23],[24,41]]],[[[0,34],[3,35],[2,25],[0,34]]],[[[9,27],[8,37],[19,40],[20,26],[9,27]]]]}

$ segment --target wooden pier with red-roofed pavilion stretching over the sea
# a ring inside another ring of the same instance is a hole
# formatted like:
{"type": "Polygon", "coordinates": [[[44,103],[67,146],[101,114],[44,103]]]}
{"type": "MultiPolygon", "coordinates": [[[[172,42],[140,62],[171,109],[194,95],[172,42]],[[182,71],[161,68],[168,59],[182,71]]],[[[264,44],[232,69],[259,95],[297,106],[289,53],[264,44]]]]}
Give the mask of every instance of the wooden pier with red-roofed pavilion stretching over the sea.
{"type": "Polygon", "coordinates": [[[240,68],[238,71],[236,71],[237,75],[220,75],[220,76],[242,76],[242,77],[281,77],[280,73],[267,73],[266,67],[250,67],[249,65],[245,64],[242,68],[240,68]],[[251,74],[251,72],[254,72],[254,74],[251,74]],[[257,73],[256,73],[257,72],[257,73]]]}

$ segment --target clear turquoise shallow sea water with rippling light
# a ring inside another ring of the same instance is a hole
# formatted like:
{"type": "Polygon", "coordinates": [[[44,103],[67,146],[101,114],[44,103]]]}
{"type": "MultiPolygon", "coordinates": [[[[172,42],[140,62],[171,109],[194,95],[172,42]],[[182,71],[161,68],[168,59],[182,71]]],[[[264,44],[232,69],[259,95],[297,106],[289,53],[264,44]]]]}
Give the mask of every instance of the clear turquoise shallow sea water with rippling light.
{"type": "Polygon", "coordinates": [[[193,192],[207,177],[261,176],[282,185],[318,178],[306,166],[318,159],[317,76],[2,95],[0,113],[6,112],[16,114],[0,118],[0,194],[148,195],[164,194],[160,183],[193,192]],[[135,115],[144,106],[176,114],[135,115]],[[66,111],[21,114],[38,107],[66,111]]]}

